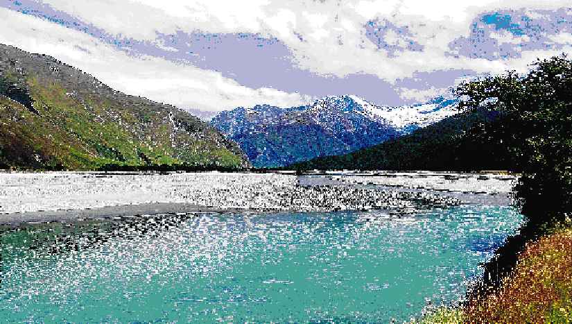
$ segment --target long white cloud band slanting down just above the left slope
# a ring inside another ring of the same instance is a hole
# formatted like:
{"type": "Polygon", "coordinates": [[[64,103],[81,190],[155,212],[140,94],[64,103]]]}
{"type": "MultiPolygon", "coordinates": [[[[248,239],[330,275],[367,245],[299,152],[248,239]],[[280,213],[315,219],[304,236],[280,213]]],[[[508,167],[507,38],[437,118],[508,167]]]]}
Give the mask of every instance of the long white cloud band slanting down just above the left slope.
{"type": "Polygon", "coordinates": [[[45,53],[87,71],[114,89],[181,108],[218,111],[256,103],[289,107],[309,100],[276,89],[250,89],[215,71],[149,56],[129,56],[85,33],[3,8],[0,31],[10,31],[0,32],[0,43],[45,53]]]}

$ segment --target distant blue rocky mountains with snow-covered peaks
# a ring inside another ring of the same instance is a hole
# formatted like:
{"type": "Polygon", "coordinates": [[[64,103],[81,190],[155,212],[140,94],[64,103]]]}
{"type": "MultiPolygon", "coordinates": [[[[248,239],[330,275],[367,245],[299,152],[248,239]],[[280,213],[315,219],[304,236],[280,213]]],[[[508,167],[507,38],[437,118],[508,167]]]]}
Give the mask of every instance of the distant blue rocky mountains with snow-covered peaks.
{"type": "Polygon", "coordinates": [[[357,96],[328,96],[310,105],[255,105],[223,111],[211,125],[241,146],[254,167],[284,167],[374,146],[456,114],[457,100],[379,106],[357,96]]]}

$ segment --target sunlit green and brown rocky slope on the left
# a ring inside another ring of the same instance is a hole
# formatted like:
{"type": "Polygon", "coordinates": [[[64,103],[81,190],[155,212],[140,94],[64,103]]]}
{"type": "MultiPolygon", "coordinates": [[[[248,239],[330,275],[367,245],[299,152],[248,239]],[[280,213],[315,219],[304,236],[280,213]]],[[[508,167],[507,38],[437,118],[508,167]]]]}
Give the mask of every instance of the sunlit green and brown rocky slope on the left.
{"type": "Polygon", "coordinates": [[[0,72],[4,166],[248,166],[236,144],[187,112],[116,92],[53,58],[0,45],[0,72]]]}

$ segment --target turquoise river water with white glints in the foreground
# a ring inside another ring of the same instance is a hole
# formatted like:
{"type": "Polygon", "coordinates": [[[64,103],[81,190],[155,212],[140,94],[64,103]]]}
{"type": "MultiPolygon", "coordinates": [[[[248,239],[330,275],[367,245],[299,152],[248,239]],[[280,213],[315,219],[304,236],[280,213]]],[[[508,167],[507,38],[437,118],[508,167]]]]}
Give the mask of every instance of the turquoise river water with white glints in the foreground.
{"type": "Polygon", "coordinates": [[[1,322],[388,322],[465,296],[522,218],[187,214],[1,234],[1,322]]]}

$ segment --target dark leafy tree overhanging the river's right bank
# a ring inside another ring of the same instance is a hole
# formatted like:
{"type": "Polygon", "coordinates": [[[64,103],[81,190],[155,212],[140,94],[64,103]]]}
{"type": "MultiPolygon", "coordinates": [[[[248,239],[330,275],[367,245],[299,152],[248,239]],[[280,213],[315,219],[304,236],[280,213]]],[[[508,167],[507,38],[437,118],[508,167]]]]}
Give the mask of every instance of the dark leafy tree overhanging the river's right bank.
{"type": "Polygon", "coordinates": [[[514,71],[465,83],[461,108],[503,114],[503,128],[487,126],[522,170],[517,186],[522,211],[543,223],[572,212],[572,61],[538,60],[525,76],[514,71]]]}

